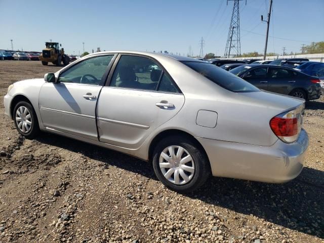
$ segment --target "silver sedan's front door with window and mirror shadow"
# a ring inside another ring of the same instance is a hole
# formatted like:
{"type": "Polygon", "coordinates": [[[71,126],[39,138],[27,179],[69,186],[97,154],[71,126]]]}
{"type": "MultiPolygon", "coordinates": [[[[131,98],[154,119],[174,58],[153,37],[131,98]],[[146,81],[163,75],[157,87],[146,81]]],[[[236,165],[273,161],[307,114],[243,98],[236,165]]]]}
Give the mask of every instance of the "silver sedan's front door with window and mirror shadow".
{"type": "Polygon", "coordinates": [[[43,125],[84,138],[98,140],[96,104],[113,55],[88,58],[46,83],[39,93],[43,125]]]}

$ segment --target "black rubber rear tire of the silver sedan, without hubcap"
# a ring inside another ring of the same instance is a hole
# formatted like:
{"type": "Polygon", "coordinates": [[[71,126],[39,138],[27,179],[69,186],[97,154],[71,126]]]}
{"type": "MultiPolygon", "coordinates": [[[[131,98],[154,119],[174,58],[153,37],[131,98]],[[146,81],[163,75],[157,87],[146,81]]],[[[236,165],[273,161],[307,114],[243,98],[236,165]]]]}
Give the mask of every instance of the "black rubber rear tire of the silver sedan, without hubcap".
{"type": "Polygon", "coordinates": [[[152,162],[153,169],[157,178],[169,189],[180,193],[189,193],[194,191],[199,186],[203,185],[205,181],[211,176],[211,167],[205,151],[200,148],[199,144],[197,144],[196,141],[185,136],[170,136],[158,142],[154,148],[152,162]],[[161,152],[172,145],[183,147],[188,151],[193,159],[193,176],[191,180],[189,180],[189,182],[182,185],[174,184],[173,182],[170,182],[168,179],[166,179],[159,167],[161,152]]]}

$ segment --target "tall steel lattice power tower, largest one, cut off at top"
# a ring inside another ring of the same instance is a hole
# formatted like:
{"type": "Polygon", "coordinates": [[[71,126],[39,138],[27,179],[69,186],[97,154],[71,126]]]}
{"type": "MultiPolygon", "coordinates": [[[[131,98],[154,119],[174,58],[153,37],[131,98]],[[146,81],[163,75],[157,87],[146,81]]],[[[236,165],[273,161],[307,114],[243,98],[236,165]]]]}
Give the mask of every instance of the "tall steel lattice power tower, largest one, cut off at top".
{"type": "MultiPolygon", "coordinates": [[[[234,6],[224,53],[224,56],[227,58],[231,56],[238,57],[241,55],[241,43],[239,33],[239,1],[242,0],[227,0],[226,4],[228,3],[228,1],[234,1],[234,6]],[[231,51],[233,54],[231,54],[231,51]]],[[[247,1],[245,1],[245,4],[247,4],[247,1]]]]}

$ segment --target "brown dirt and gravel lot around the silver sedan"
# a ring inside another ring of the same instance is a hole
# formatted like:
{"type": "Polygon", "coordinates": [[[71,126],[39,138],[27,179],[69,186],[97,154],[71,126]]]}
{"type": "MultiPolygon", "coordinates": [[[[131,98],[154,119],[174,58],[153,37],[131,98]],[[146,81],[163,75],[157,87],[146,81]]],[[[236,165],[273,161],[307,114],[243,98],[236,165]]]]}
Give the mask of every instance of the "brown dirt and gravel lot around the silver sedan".
{"type": "Polygon", "coordinates": [[[58,69],[0,61],[0,242],[324,242],[324,99],[307,103],[310,146],[298,178],[211,178],[181,195],[136,158],[18,135],[3,114],[8,86],[58,69]]]}

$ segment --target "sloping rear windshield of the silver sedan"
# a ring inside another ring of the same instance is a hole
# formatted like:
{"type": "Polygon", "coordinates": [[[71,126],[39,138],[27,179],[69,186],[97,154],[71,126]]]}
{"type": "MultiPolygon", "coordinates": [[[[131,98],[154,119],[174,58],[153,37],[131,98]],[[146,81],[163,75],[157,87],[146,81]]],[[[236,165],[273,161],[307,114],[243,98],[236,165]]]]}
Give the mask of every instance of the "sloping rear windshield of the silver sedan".
{"type": "Polygon", "coordinates": [[[251,85],[245,80],[234,76],[230,72],[225,71],[222,68],[216,67],[213,64],[192,61],[183,61],[182,63],[195,70],[199,74],[207,77],[220,87],[229,91],[237,93],[260,91],[257,87],[251,85]]]}

